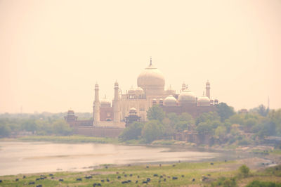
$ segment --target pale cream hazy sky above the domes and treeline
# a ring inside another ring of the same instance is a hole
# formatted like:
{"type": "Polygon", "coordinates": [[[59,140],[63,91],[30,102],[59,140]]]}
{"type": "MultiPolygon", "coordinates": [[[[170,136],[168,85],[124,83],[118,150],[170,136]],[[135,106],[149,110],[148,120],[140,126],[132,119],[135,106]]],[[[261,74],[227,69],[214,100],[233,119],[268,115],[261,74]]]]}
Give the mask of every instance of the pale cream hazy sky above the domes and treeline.
{"type": "Polygon", "coordinates": [[[281,1],[0,0],[0,112],[92,112],[150,56],[166,88],[281,108],[281,1]]]}

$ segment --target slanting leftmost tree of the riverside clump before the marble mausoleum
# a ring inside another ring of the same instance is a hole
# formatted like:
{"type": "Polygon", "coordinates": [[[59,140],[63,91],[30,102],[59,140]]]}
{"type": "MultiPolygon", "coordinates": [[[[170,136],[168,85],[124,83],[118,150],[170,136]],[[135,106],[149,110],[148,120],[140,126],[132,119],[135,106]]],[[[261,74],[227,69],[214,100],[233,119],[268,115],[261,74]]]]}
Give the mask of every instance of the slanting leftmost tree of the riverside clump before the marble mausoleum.
{"type": "Polygon", "coordinates": [[[124,129],[122,134],[119,135],[119,138],[122,139],[122,141],[138,139],[141,136],[142,129],[143,123],[133,122],[133,124],[130,124],[129,127],[124,129]]]}

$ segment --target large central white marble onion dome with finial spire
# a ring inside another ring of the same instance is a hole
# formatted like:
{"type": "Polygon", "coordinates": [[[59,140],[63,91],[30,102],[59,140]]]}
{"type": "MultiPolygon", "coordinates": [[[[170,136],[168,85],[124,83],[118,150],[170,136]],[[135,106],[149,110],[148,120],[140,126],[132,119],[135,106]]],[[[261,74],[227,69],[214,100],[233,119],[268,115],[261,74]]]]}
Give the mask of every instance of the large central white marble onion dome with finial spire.
{"type": "Polygon", "coordinates": [[[137,83],[138,87],[141,87],[145,93],[148,93],[148,90],[158,90],[164,92],[164,75],[152,65],[151,60],[150,65],[146,67],[140,75],[138,75],[137,83]]]}

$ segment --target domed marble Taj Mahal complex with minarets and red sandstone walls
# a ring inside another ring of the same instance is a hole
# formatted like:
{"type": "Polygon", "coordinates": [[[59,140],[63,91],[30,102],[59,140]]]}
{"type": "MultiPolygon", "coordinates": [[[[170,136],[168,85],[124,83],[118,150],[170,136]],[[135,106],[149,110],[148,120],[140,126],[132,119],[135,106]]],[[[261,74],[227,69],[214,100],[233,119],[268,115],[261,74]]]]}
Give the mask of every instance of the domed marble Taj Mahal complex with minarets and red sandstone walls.
{"type": "Polygon", "coordinates": [[[165,77],[163,73],[150,64],[138,75],[136,88],[131,88],[126,93],[119,89],[115,82],[115,94],[112,102],[107,98],[100,99],[99,85],[95,85],[95,98],[93,102],[93,120],[79,121],[74,116],[74,111],[69,110],[65,120],[72,126],[91,126],[124,129],[128,119],[147,121],[146,112],[152,105],[159,105],[164,112],[181,114],[188,112],[192,117],[197,117],[202,112],[216,110],[217,99],[210,96],[210,83],[207,81],[205,93],[197,97],[188,85],[182,84],[180,93],[176,93],[169,86],[165,90],[165,77]]]}

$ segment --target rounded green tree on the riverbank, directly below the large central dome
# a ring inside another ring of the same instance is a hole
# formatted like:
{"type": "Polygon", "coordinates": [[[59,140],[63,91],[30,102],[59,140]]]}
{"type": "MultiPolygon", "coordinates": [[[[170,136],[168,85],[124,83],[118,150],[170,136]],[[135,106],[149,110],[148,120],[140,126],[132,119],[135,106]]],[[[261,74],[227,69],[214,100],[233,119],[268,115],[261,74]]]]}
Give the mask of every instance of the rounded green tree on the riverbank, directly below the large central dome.
{"type": "Polygon", "coordinates": [[[147,143],[150,143],[160,138],[163,132],[164,127],[158,120],[150,120],[145,123],[141,135],[147,143]]]}

